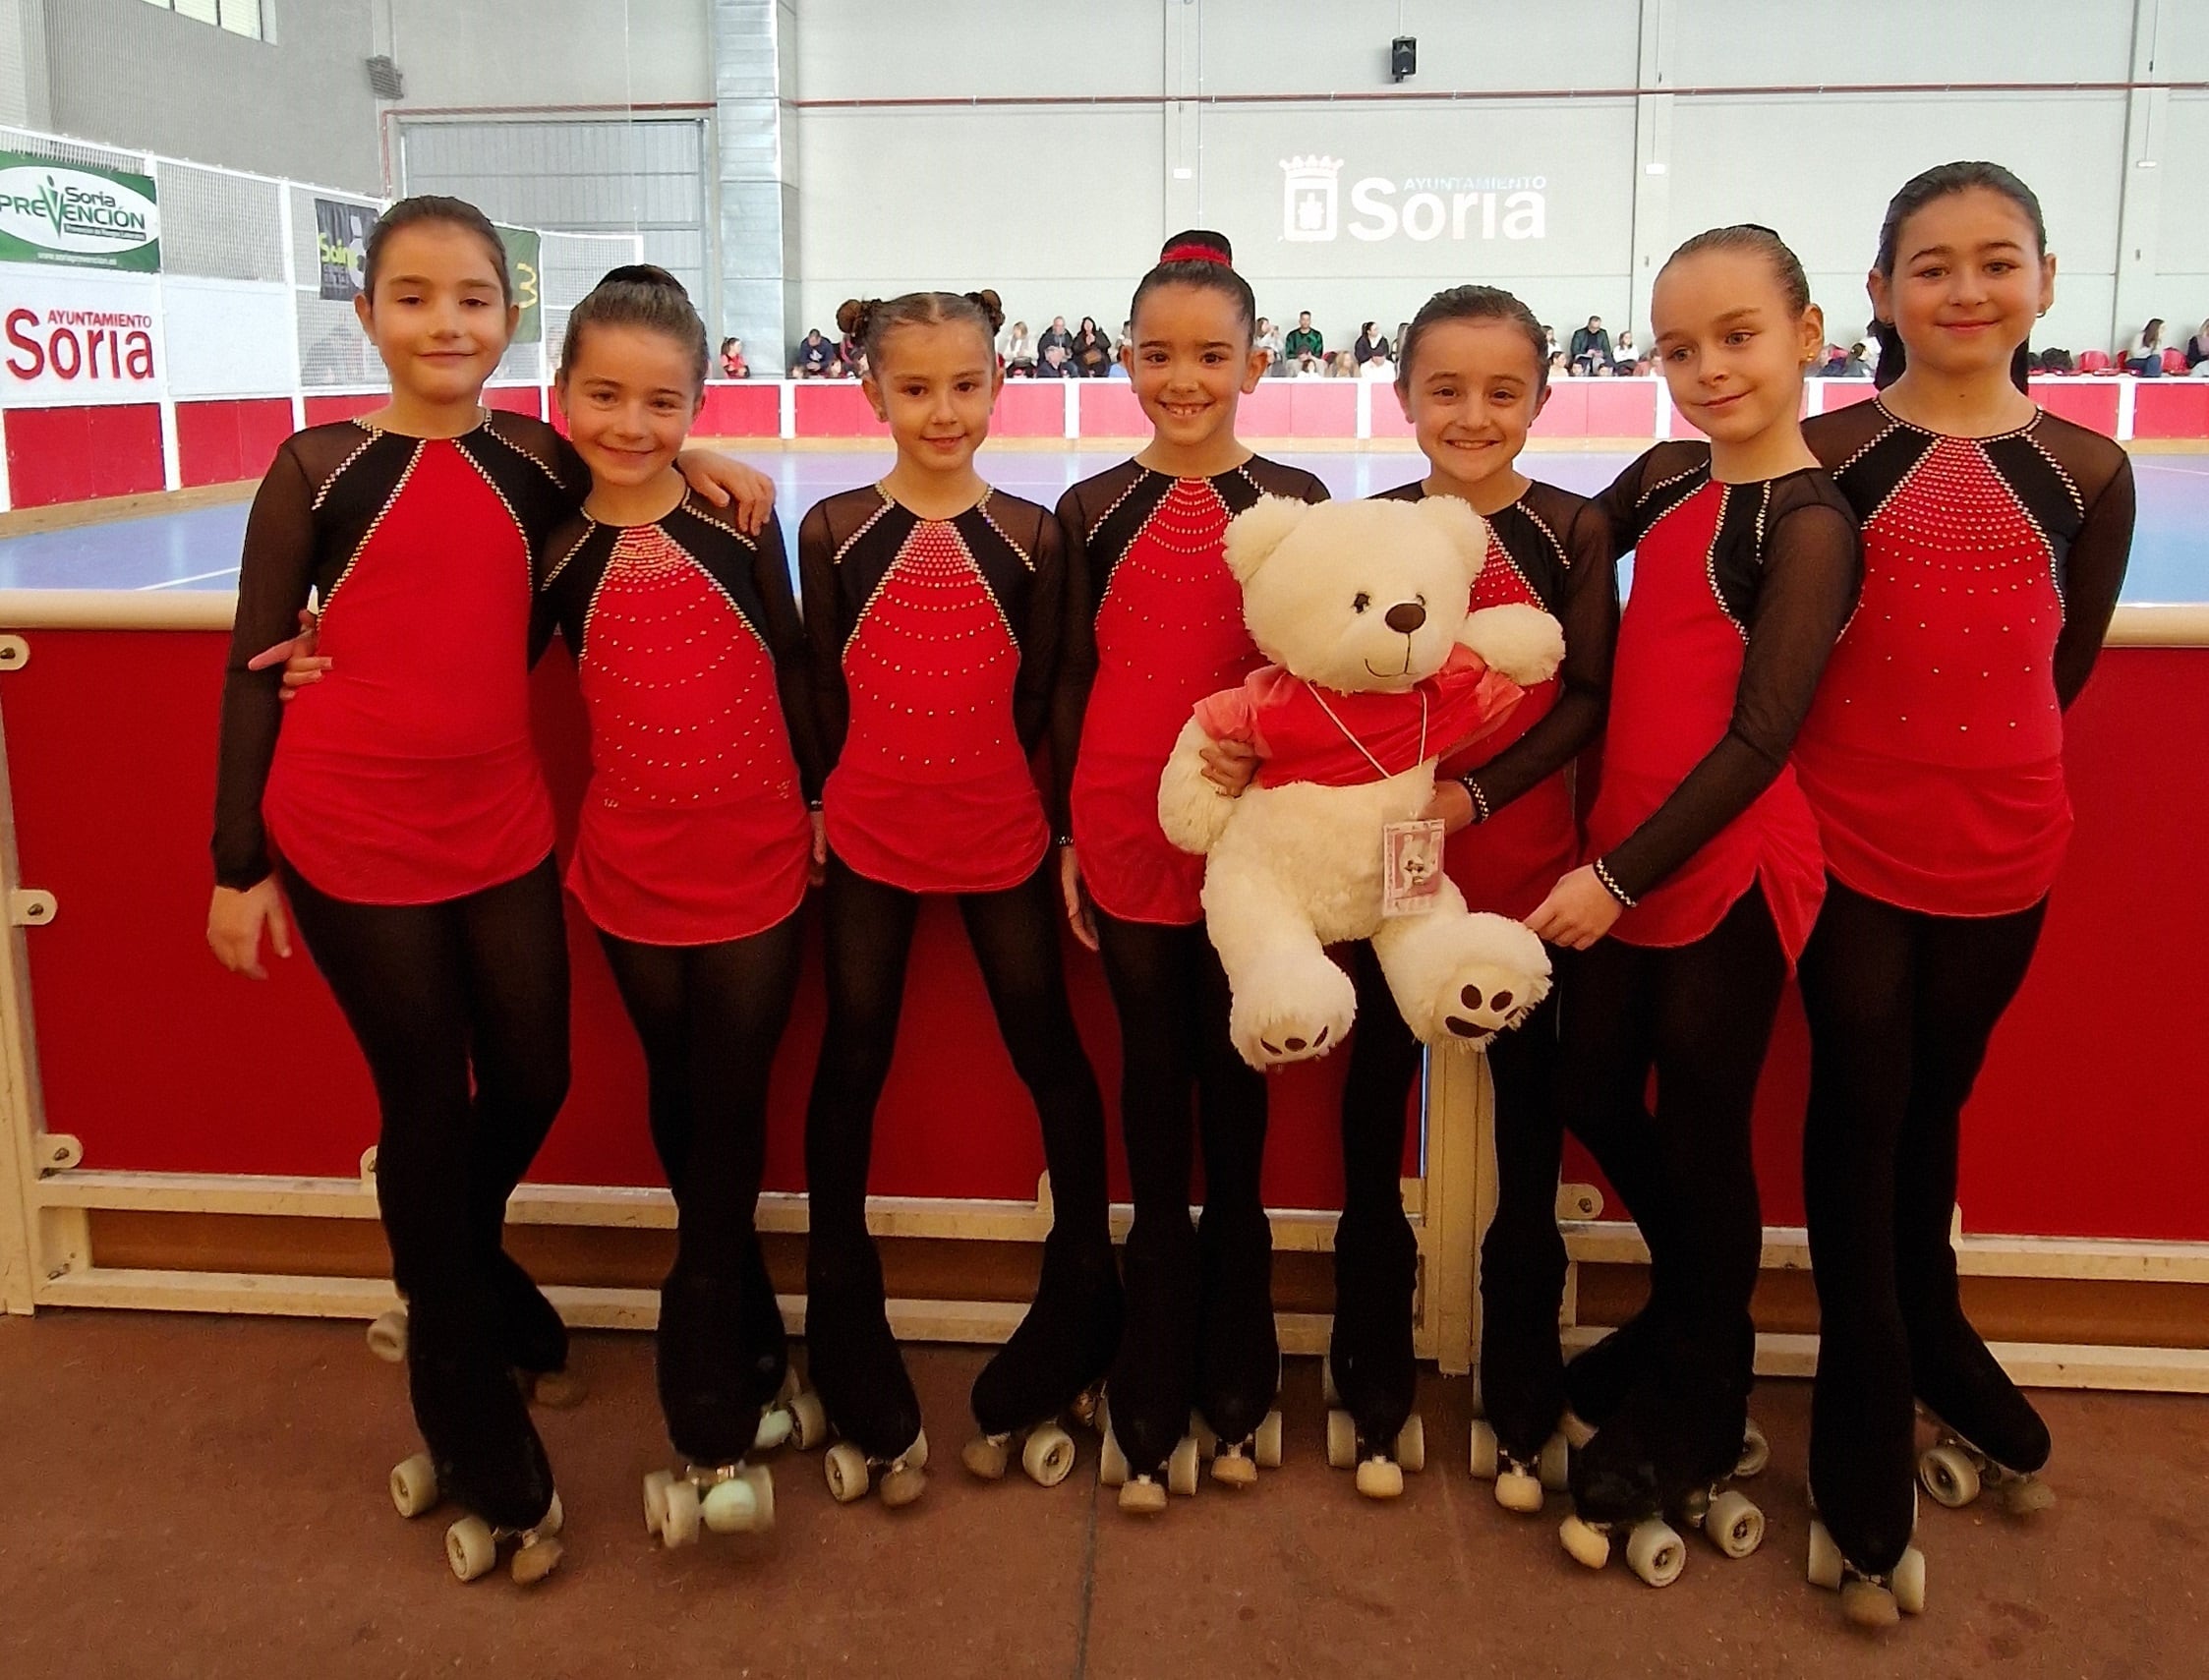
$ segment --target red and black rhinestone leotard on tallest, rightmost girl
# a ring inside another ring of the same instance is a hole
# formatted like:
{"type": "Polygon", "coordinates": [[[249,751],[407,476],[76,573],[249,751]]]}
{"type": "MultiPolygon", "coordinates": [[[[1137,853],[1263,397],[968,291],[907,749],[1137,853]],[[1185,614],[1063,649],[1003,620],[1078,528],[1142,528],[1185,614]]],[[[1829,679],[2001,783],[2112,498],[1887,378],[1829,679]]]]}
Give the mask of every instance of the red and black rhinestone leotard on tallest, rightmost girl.
{"type": "Polygon", "coordinates": [[[1803,437],[1864,521],[1864,603],[1796,742],[1827,865],[1904,910],[2026,910],[2070,841],[2063,709],[2125,581],[2132,459],[2046,413],[1944,437],[1867,402],[1803,437]]]}

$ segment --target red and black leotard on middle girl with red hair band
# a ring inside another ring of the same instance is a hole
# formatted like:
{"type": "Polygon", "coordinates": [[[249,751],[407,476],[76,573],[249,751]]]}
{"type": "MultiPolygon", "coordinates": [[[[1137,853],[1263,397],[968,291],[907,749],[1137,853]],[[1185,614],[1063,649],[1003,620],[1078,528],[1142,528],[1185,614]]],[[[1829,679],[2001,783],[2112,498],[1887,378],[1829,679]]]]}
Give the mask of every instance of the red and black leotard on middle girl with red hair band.
{"type": "Polygon", "coordinates": [[[1124,461],[1058,501],[1078,598],[1054,757],[1089,896],[1118,921],[1204,921],[1204,859],[1160,830],[1158,777],[1191,706],[1266,662],[1224,559],[1228,519],[1261,495],[1325,501],[1328,488],[1253,455],[1215,479],[1124,461]]]}

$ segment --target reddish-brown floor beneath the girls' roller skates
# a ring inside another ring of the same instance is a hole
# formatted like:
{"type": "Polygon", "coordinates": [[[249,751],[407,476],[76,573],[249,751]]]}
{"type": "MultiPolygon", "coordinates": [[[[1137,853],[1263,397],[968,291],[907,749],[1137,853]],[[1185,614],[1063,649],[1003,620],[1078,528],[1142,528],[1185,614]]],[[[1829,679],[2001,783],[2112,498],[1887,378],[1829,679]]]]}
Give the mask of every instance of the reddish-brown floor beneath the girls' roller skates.
{"type": "Polygon", "coordinates": [[[1429,1468],[1396,1506],[1321,1453],[1319,1367],[1292,1360],[1288,1464],[1164,1519],[1093,1488],[959,1468],[976,1349],[912,1351],[937,1470],[919,1506],[839,1510],[775,1459],[780,1525],[665,1554],[638,1517],[663,1464],[643,1336],[579,1338],[590,1400],[539,1413],[570,1550],[519,1592],[462,1587],[442,1521],[400,1521],[398,1371],[358,1325],[133,1314],[0,1320],[0,1676],[1951,1676],[2209,1673],[2209,1404],[2041,1395],[2057,1510],[1926,1506],[1928,1614],[1884,1640],[1803,1583],[1805,1384],[1756,1415],[1763,1552],[1692,1543],[1679,1585],[1590,1576],[1562,1501],[1507,1517],[1462,1468],[1467,1382],[1425,1378],[1429,1468]]]}

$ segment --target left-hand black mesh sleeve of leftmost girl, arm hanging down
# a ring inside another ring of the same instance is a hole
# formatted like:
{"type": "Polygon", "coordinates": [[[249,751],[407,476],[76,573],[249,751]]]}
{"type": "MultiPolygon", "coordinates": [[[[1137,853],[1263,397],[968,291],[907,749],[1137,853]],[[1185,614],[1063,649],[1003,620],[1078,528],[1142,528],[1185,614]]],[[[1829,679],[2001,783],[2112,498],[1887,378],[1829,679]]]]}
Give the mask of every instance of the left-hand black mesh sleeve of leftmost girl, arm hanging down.
{"type": "Polygon", "coordinates": [[[298,609],[314,587],[314,488],[294,444],[276,450],[245,521],[239,561],[239,614],[223,671],[223,726],[214,770],[214,881],[250,887],[269,872],[261,793],[283,724],[283,667],[245,662],[298,634],[298,609]]]}

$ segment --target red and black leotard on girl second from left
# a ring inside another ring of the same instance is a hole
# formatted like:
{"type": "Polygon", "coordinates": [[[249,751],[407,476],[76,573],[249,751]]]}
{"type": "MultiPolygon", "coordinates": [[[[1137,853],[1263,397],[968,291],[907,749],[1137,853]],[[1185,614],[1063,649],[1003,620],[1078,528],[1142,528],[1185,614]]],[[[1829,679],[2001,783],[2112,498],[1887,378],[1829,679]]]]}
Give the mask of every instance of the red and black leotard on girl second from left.
{"type": "Polygon", "coordinates": [[[636,945],[718,945],[806,894],[820,797],[806,636],[782,530],[696,497],[652,525],[568,521],[537,634],[559,627],[590,715],[568,890],[636,945]]]}

